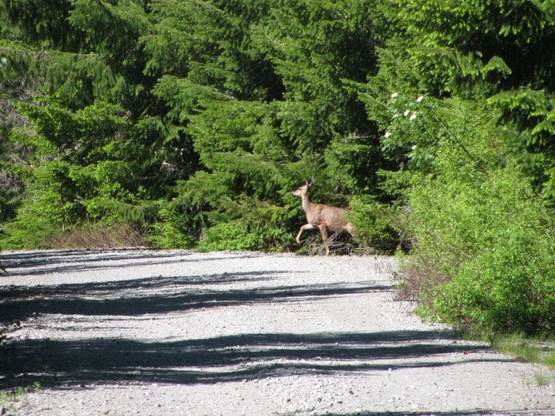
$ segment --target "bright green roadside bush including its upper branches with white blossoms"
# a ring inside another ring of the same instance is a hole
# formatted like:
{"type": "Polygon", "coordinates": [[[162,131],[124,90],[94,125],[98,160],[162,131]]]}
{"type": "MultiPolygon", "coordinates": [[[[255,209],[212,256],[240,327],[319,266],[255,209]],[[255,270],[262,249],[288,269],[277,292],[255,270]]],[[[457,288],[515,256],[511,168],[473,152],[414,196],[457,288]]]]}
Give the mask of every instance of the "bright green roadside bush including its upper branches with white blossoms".
{"type": "Polygon", "coordinates": [[[423,99],[418,112],[414,104],[417,123],[396,117],[384,144],[407,155],[404,232],[412,252],[404,283],[420,313],[555,331],[555,224],[503,130],[463,101],[440,107],[423,99]]]}

